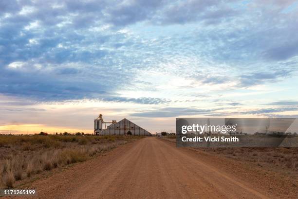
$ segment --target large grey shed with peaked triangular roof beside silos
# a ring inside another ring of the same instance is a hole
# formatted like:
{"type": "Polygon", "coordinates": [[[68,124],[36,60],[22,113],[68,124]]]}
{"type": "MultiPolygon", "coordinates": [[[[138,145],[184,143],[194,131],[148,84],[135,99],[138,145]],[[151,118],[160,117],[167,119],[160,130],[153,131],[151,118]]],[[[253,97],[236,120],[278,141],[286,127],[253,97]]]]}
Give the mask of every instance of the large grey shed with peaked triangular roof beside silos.
{"type": "Polygon", "coordinates": [[[142,135],[151,134],[128,119],[122,119],[117,123],[111,124],[106,129],[99,132],[99,135],[142,135]]]}

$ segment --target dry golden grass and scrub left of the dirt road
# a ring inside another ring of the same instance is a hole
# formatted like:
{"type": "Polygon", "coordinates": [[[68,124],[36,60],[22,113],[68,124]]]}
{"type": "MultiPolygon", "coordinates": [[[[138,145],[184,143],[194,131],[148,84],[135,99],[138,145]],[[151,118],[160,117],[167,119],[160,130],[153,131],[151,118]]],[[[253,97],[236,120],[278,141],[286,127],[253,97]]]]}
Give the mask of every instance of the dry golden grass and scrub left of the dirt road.
{"type": "Polygon", "coordinates": [[[0,135],[0,188],[90,159],[137,136],[0,135]]]}

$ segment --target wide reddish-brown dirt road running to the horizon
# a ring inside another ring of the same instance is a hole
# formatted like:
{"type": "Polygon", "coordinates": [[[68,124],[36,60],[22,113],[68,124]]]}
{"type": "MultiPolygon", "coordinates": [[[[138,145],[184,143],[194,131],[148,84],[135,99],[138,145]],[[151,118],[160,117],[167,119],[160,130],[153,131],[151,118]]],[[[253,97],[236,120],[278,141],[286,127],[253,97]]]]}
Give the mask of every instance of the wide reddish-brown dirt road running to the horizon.
{"type": "Polygon", "coordinates": [[[242,174],[207,158],[145,138],[26,186],[41,199],[275,198],[261,183],[238,178],[242,174]]]}

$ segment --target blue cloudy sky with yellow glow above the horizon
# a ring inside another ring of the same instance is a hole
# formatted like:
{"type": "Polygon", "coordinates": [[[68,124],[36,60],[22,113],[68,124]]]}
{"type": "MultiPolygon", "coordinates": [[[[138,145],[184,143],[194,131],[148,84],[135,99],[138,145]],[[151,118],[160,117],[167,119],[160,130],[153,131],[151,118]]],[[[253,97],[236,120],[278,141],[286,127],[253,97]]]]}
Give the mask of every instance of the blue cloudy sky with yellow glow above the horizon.
{"type": "Polygon", "coordinates": [[[295,0],[0,0],[0,133],[298,117],[295,0]]]}

